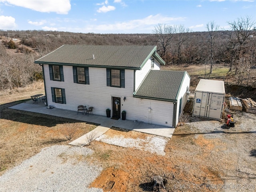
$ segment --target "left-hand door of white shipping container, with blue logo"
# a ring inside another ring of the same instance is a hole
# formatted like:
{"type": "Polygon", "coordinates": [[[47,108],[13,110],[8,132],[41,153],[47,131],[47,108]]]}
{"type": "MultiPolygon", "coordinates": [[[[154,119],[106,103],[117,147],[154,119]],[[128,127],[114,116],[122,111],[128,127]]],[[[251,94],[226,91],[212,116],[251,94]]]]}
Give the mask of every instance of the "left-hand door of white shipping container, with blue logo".
{"type": "Polygon", "coordinates": [[[207,92],[196,92],[194,100],[193,115],[206,117],[207,106],[210,93],[207,92]]]}

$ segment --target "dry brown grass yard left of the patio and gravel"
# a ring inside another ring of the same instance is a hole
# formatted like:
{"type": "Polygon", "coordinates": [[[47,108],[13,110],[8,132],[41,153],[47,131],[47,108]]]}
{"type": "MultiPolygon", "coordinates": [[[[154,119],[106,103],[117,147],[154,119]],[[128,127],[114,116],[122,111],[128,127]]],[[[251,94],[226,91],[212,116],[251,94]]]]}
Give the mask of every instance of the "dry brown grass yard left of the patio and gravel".
{"type": "Polygon", "coordinates": [[[72,138],[78,138],[96,128],[95,124],[9,109],[8,107],[30,99],[30,95],[44,93],[44,88],[19,90],[0,96],[0,175],[23,160],[54,144],[68,144],[61,134],[63,128],[75,127],[72,138]],[[4,104],[3,104],[4,103],[4,104]]]}

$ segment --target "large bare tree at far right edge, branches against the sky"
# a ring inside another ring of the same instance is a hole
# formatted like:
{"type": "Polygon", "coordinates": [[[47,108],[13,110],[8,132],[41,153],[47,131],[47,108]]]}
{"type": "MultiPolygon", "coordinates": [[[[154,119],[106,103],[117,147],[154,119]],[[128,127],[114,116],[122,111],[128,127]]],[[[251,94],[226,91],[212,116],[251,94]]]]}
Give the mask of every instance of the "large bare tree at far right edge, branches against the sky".
{"type": "Polygon", "coordinates": [[[232,46],[232,56],[230,62],[230,69],[232,70],[234,62],[238,63],[239,58],[248,51],[248,42],[250,42],[250,36],[256,30],[256,22],[251,17],[238,18],[237,21],[228,22],[232,32],[228,35],[230,37],[230,44],[232,46]]]}

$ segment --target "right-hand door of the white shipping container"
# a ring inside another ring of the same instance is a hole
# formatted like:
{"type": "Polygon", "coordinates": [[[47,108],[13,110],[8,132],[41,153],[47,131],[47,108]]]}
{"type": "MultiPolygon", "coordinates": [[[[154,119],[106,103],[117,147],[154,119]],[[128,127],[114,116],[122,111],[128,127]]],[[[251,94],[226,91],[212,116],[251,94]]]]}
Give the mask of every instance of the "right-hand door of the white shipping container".
{"type": "Polygon", "coordinates": [[[224,95],[220,94],[212,94],[211,102],[210,102],[210,110],[208,117],[214,119],[220,119],[222,115],[222,108],[224,102],[224,95]]]}

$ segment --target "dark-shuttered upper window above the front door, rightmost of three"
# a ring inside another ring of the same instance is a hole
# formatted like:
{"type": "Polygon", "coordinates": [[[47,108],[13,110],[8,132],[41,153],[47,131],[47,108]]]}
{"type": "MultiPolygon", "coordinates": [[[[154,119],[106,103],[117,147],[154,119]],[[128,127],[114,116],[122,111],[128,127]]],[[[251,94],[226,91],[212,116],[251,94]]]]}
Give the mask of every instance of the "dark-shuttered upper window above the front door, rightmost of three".
{"type": "Polygon", "coordinates": [[[124,88],[124,69],[107,68],[107,86],[124,88]]]}

